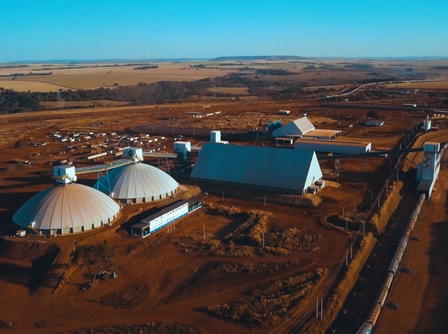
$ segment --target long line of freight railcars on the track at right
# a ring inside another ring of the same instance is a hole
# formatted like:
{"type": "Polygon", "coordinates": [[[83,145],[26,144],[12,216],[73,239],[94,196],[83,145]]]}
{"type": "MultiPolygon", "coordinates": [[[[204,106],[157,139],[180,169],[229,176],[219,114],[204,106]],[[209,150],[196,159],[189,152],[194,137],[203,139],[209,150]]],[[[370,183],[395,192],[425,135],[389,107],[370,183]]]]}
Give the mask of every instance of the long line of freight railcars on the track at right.
{"type": "Polygon", "coordinates": [[[378,318],[380,317],[381,309],[383,308],[384,303],[386,302],[386,298],[389,293],[389,290],[391,289],[394,277],[398,272],[398,266],[400,265],[400,262],[403,259],[406,246],[408,245],[408,240],[411,238],[412,231],[414,230],[415,223],[417,221],[418,215],[420,214],[420,210],[423,206],[424,200],[425,200],[425,194],[421,194],[420,198],[418,199],[417,205],[414,208],[414,211],[412,211],[411,218],[409,219],[406,230],[400,239],[400,243],[397,247],[397,250],[395,251],[394,258],[392,259],[391,265],[389,266],[388,269],[386,280],[384,281],[384,284],[381,286],[377,294],[377,299],[375,300],[374,305],[370,309],[367,319],[365,319],[364,323],[358,329],[356,334],[370,334],[371,331],[374,329],[375,324],[377,323],[378,318]]]}

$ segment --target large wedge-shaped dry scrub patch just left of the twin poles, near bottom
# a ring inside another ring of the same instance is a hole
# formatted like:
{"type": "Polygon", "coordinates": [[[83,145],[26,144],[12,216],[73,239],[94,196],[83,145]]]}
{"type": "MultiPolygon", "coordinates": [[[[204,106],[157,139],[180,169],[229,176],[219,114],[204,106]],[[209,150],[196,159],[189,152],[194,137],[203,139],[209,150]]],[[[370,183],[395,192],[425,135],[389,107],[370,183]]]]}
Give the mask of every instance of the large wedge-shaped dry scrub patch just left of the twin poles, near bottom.
{"type": "Polygon", "coordinates": [[[270,327],[299,309],[326,269],[303,273],[254,290],[246,301],[209,306],[209,312],[253,327],[270,327]]]}

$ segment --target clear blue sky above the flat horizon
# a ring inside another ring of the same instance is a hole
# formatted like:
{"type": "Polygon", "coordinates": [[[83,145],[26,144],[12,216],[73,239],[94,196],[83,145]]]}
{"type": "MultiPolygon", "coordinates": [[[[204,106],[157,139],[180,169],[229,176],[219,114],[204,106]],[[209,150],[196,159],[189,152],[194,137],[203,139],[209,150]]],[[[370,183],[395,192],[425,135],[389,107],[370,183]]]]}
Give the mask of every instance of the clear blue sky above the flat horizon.
{"type": "Polygon", "coordinates": [[[448,1],[12,1],[0,62],[448,56],[448,1]]]}

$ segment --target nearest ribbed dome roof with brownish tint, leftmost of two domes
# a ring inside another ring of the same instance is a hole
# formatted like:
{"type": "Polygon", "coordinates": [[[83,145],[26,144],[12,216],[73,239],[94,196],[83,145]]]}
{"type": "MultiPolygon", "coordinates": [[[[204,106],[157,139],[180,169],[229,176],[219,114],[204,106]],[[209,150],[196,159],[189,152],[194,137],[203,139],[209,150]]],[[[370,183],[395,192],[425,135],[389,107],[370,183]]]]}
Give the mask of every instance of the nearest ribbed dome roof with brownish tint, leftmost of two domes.
{"type": "Polygon", "coordinates": [[[85,226],[113,221],[120,206],[103,193],[80,184],[53,186],[29,199],[13,216],[20,226],[38,230],[85,226]]]}

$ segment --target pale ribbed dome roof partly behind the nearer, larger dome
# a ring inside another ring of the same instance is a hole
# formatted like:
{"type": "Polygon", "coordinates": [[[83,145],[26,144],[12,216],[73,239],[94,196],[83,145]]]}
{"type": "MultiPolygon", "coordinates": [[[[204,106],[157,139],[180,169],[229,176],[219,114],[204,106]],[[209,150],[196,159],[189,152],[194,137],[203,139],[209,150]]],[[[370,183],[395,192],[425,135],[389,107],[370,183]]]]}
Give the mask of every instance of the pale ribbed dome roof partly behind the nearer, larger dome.
{"type": "Polygon", "coordinates": [[[177,187],[179,184],[167,173],[140,162],[113,169],[94,186],[107,195],[112,194],[115,199],[151,199],[154,196],[155,200],[160,195],[163,198],[167,193],[171,195],[177,187]]]}

